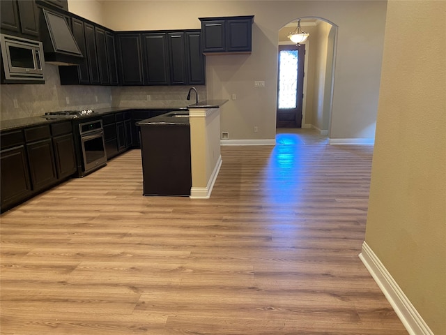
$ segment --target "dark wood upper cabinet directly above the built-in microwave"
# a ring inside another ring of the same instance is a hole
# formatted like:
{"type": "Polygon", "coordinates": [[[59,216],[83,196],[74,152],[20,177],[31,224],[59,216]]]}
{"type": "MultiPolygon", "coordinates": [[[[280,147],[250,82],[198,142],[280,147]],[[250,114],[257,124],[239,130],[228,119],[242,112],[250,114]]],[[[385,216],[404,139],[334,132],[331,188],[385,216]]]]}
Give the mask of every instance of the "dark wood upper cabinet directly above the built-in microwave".
{"type": "Polygon", "coordinates": [[[34,0],[1,0],[1,32],[38,39],[38,8],[34,0]]]}

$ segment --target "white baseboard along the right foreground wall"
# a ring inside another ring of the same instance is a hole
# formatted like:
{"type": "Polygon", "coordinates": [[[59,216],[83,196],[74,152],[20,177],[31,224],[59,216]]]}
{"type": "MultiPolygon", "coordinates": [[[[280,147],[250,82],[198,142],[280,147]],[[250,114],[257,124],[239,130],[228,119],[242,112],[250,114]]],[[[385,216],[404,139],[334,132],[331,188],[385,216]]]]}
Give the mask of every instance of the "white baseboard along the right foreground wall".
{"type": "Polygon", "coordinates": [[[404,294],[389,271],[364,241],[360,259],[369,270],[410,335],[433,335],[426,322],[404,294]]]}

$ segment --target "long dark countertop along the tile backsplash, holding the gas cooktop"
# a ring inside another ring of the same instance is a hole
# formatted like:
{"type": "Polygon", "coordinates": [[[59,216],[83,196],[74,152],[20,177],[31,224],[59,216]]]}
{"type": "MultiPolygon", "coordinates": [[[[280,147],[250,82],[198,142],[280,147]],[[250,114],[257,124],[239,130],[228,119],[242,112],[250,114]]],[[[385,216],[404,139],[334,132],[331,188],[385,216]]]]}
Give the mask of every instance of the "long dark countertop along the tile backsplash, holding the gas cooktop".
{"type": "MultiPolygon", "coordinates": [[[[69,108],[67,108],[69,110],[69,108]]],[[[124,112],[128,110],[167,110],[167,112],[171,110],[187,110],[187,107],[107,107],[107,108],[98,108],[94,110],[95,113],[93,115],[89,115],[91,117],[100,117],[104,114],[115,113],[115,112],[124,112]]],[[[77,120],[82,120],[84,117],[76,118],[77,120]]],[[[85,117],[86,118],[86,117],[85,117]]],[[[179,119],[179,118],[178,118],[179,119]]],[[[189,118],[186,118],[187,122],[189,122],[189,118]]],[[[54,124],[56,122],[61,121],[69,121],[72,119],[46,119],[45,117],[24,117],[22,119],[11,119],[11,120],[1,120],[0,121],[0,131],[10,131],[15,128],[24,128],[28,126],[39,126],[44,124],[54,124]]]]}

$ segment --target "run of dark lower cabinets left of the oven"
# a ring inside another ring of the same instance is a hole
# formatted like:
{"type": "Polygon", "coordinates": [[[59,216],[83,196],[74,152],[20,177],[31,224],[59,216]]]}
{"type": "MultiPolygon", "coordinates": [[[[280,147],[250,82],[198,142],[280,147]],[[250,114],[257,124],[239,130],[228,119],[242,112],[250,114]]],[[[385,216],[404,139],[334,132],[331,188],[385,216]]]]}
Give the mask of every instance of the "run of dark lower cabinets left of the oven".
{"type": "Polygon", "coordinates": [[[71,121],[1,133],[1,211],[76,172],[71,121]]]}

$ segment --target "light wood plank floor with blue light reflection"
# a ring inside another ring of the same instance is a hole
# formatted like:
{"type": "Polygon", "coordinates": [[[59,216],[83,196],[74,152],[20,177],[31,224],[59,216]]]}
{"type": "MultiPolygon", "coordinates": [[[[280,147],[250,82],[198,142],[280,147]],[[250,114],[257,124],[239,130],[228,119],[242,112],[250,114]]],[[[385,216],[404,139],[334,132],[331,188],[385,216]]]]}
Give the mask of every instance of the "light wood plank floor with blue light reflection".
{"type": "Polygon", "coordinates": [[[373,148],[277,136],[209,200],[143,197],[132,150],[1,215],[1,334],[407,334],[357,257],[373,148]]]}

